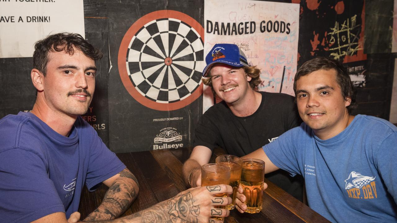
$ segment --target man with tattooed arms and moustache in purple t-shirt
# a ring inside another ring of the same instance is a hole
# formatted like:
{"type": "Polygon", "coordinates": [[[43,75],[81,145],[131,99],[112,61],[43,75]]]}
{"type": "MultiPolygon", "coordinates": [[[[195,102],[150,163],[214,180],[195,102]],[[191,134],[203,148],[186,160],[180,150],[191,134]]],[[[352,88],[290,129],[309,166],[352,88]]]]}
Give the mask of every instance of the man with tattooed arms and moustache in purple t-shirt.
{"type": "MultiPolygon", "coordinates": [[[[33,109],[0,119],[1,222],[77,222],[84,184],[89,190],[99,183],[109,187],[100,206],[84,221],[117,218],[137,197],[135,176],[80,116],[91,103],[95,62],[101,57],[78,34],[58,33],[35,44],[31,78],[37,98],[33,109]]],[[[229,214],[214,208],[214,195],[231,192],[229,185],[186,190],[109,222],[209,222],[211,216],[229,214]],[[181,205],[169,206],[176,202],[181,205]],[[186,213],[186,208],[193,211],[186,213]]],[[[231,203],[231,198],[220,199],[225,205],[231,203]]]]}

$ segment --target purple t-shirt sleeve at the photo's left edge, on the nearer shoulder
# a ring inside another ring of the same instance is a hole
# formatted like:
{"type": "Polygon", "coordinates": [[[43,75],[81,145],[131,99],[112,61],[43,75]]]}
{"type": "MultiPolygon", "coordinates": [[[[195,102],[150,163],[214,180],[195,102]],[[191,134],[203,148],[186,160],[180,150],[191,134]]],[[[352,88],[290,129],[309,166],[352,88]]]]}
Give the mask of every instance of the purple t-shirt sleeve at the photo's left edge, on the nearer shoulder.
{"type": "Polygon", "coordinates": [[[0,153],[0,216],[4,222],[31,222],[65,212],[42,155],[13,148],[0,153]]]}

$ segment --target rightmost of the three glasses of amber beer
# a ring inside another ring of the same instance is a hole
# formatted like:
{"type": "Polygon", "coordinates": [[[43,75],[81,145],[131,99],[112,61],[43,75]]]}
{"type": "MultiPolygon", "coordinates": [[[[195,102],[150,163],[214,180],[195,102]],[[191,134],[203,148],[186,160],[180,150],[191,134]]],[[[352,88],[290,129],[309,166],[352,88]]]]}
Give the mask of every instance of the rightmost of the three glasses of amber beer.
{"type": "Polygon", "coordinates": [[[240,184],[247,197],[247,213],[259,213],[262,210],[262,194],[265,175],[265,163],[257,159],[244,159],[240,184]]]}

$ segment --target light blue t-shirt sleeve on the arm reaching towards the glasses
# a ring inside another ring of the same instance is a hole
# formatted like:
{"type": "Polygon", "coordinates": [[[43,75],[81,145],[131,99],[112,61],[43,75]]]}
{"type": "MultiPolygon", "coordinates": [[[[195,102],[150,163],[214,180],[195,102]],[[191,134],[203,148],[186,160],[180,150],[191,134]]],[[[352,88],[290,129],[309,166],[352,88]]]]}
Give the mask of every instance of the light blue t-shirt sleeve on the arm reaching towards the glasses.
{"type": "Polygon", "coordinates": [[[289,172],[291,176],[301,174],[297,162],[298,154],[293,142],[295,132],[299,131],[299,128],[283,133],[276,140],[262,147],[270,161],[278,168],[289,172]]]}

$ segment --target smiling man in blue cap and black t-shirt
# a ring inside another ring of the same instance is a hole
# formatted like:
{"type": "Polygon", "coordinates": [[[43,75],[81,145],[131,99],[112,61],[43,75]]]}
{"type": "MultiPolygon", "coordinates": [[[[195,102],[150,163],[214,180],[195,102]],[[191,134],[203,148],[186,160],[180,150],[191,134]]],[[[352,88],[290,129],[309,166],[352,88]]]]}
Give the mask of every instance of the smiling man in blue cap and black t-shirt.
{"type": "MultiPolygon", "coordinates": [[[[183,165],[185,181],[192,187],[201,185],[200,167],[209,162],[214,148],[244,156],[301,123],[293,96],[255,91],[260,70],[248,65],[237,45],[215,44],[206,64],[202,81],[223,101],[209,108],[195,129],[193,152],[183,165]]],[[[301,178],[285,171],[266,177],[302,200],[301,178]]]]}

